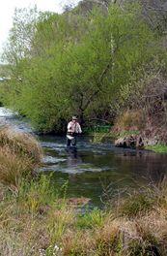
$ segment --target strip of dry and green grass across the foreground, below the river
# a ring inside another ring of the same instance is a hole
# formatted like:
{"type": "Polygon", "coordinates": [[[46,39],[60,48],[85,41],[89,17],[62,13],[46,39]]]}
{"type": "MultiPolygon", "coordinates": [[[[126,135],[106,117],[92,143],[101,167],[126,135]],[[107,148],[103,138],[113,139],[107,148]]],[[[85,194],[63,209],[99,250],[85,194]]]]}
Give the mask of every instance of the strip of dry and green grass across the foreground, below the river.
{"type": "MultiPolygon", "coordinates": [[[[54,188],[45,176],[37,184],[35,181],[29,186],[23,184],[11,196],[4,186],[3,189],[0,208],[3,256],[166,256],[166,183],[156,189],[156,196],[154,189],[153,208],[124,216],[116,216],[111,209],[96,215],[87,212],[86,217],[78,215],[66,200],[60,203],[51,196],[54,188]],[[35,193],[38,208],[30,207],[35,193]],[[41,212],[40,208],[45,210],[41,212]],[[100,225],[90,225],[93,215],[94,222],[100,225]],[[84,218],[82,226],[80,218],[84,218]]],[[[136,201],[136,196],[133,200],[136,201]]]]}

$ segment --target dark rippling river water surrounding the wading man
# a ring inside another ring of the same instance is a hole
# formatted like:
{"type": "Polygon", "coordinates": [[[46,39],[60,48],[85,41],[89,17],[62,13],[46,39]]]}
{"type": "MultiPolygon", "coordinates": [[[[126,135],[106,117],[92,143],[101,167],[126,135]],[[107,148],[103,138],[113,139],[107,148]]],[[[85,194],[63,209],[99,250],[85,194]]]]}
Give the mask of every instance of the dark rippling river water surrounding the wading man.
{"type": "MultiPolygon", "coordinates": [[[[16,113],[0,108],[0,124],[33,133],[31,126],[16,113]]],[[[167,174],[167,155],[150,151],[116,148],[112,143],[92,144],[78,138],[77,153],[66,151],[66,138],[38,137],[44,150],[44,174],[52,173],[55,189],[68,182],[69,197],[90,198],[93,206],[113,197],[118,191],[147,186],[167,174]]]]}

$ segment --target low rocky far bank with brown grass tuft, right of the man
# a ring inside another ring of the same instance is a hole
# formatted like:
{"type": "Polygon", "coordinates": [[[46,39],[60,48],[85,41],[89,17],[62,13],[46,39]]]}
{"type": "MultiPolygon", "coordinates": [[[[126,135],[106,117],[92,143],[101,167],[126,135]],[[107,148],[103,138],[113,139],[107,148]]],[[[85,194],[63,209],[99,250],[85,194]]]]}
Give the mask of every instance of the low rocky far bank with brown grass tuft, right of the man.
{"type": "Polygon", "coordinates": [[[127,110],[120,113],[112,133],[118,147],[149,149],[157,153],[167,152],[165,102],[159,99],[162,108],[156,110],[156,102],[150,111],[127,110]],[[155,110],[153,109],[155,108],[155,110]],[[154,110],[154,114],[151,112],[154,110]]]}

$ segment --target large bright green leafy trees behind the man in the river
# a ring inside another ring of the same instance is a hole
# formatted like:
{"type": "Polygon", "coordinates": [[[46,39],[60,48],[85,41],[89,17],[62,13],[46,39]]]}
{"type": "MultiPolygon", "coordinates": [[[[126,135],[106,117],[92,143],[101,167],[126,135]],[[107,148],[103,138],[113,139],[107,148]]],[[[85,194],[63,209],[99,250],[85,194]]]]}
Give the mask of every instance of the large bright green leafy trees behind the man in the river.
{"type": "Polygon", "coordinates": [[[113,4],[107,16],[96,9],[88,16],[15,16],[4,54],[13,53],[15,41],[21,42],[23,53],[13,54],[12,80],[1,90],[4,104],[27,115],[42,131],[62,131],[73,112],[81,121],[110,116],[134,70],[153,59],[155,37],[140,14],[138,5],[122,9],[113,4]],[[33,31],[28,52],[26,37],[23,42],[21,35],[16,39],[20,23],[33,31]]]}

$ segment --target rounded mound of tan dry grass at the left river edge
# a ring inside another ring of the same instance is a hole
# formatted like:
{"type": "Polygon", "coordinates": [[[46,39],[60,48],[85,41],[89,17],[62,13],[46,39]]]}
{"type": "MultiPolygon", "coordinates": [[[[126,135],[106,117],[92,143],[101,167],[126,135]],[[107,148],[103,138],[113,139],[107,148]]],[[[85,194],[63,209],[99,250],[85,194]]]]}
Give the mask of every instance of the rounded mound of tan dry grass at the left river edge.
{"type": "Polygon", "coordinates": [[[42,159],[42,148],[31,135],[0,130],[0,182],[18,186],[22,177],[32,176],[42,159]]]}

